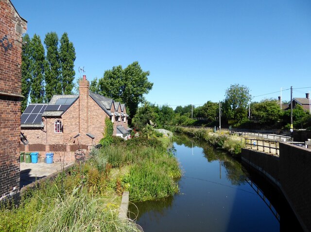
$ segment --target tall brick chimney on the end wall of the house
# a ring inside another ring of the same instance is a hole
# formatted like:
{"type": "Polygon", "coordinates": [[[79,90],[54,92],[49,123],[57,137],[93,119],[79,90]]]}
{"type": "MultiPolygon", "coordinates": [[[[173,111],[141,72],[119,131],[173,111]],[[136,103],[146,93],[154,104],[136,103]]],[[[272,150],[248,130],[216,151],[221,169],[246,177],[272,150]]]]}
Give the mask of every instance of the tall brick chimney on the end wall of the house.
{"type": "Polygon", "coordinates": [[[79,133],[85,135],[88,133],[88,90],[89,81],[86,75],[79,81],[79,133]]]}

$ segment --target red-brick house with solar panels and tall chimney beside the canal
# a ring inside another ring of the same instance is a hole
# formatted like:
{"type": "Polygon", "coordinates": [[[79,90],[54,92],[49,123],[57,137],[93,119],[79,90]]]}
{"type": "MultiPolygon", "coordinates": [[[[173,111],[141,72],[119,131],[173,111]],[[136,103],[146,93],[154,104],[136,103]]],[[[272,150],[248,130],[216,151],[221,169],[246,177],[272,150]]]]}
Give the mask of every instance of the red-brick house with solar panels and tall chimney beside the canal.
{"type": "MultiPolygon", "coordinates": [[[[126,107],[89,90],[86,76],[79,82],[79,95],[54,95],[49,104],[30,104],[21,115],[21,148],[41,156],[54,152],[73,161],[74,151],[89,150],[103,138],[105,119],[114,126],[113,135],[127,140],[126,107]],[[65,153],[63,153],[65,152],[65,153]]],[[[56,153],[56,154],[55,154],[56,153]]],[[[54,158],[55,160],[55,158],[54,158]]]]}

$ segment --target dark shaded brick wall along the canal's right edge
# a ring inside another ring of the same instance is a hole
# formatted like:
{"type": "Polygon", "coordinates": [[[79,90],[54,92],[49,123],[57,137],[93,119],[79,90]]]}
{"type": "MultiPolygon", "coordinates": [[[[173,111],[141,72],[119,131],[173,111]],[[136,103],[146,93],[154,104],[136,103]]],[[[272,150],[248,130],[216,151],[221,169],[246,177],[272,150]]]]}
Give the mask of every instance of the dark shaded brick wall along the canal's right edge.
{"type": "Polygon", "coordinates": [[[311,149],[280,143],[280,156],[242,149],[242,161],[282,191],[305,231],[311,231],[311,149]]]}

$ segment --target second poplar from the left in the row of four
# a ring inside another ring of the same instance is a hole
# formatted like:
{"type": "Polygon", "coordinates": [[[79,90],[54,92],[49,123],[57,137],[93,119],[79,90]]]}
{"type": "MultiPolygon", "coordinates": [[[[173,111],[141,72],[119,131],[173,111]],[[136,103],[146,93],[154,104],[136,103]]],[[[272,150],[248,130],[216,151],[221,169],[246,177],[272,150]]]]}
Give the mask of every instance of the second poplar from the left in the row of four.
{"type": "Polygon", "coordinates": [[[31,40],[33,59],[33,81],[31,84],[30,99],[33,103],[44,102],[44,66],[45,55],[40,36],[36,34],[31,40]]]}

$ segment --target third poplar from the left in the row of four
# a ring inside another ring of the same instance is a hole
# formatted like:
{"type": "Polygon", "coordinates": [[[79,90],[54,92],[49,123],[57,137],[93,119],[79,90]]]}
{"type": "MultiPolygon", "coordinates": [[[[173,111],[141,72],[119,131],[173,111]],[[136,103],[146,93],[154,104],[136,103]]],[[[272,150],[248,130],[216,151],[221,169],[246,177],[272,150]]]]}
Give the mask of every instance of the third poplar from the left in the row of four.
{"type": "Polygon", "coordinates": [[[45,102],[54,94],[62,94],[60,80],[60,59],[58,54],[58,36],[56,32],[46,34],[44,44],[47,51],[45,62],[45,102]]]}

